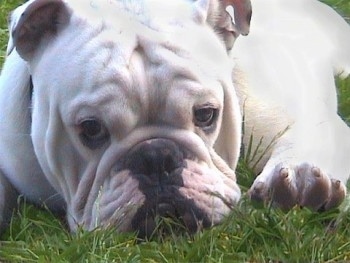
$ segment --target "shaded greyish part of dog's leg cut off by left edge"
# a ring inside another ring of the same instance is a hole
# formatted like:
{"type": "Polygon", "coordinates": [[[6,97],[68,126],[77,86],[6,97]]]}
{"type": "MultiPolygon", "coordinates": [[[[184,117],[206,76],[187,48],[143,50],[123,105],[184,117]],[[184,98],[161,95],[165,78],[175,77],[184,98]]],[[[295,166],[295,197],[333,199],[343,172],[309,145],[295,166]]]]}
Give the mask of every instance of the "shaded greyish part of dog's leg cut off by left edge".
{"type": "Polygon", "coordinates": [[[18,193],[0,171],[0,234],[6,229],[17,204],[18,193]]]}

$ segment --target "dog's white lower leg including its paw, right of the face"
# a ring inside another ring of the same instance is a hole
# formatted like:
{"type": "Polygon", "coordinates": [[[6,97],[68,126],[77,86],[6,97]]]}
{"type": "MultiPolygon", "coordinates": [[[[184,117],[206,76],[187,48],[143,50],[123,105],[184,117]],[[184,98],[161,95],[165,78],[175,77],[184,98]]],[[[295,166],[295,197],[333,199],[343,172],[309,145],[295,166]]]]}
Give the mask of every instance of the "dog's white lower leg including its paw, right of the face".
{"type": "Polygon", "coordinates": [[[350,173],[350,130],[338,117],[315,125],[296,123],[276,144],[249,194],[285,209],[338,206],[350,173]]]}

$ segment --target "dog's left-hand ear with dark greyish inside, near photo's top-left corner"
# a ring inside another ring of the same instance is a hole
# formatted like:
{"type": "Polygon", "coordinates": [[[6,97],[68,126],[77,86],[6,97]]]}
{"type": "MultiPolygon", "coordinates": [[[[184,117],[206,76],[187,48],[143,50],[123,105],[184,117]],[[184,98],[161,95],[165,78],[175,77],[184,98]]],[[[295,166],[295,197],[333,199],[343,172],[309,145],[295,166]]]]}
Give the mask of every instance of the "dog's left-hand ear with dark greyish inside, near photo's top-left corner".
{"type": "Polygon", "coordinates": [[[8,54],[16,48],[23,59],[29,60],[44,41],[55,37],[69,18],[63,0],[32,0],[18,7],[10,16],[8,54]]]}

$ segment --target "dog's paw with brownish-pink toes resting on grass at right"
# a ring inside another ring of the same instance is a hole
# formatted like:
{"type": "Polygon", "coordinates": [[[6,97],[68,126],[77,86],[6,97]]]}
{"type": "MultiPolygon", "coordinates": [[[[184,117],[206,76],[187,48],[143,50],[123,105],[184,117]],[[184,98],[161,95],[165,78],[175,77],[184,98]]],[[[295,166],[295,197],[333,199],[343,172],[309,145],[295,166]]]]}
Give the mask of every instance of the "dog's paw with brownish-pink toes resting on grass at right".
{"type": "Polygon", "coordinates": [[[253,201],[272,202],[286,210],[295,205],[328,210],[339,206],[346,195],[346,187],[341,181],[330,179],[321,169],[308,163],[280,164],[271,172],[264,172],[248,191],[253,201]]]}

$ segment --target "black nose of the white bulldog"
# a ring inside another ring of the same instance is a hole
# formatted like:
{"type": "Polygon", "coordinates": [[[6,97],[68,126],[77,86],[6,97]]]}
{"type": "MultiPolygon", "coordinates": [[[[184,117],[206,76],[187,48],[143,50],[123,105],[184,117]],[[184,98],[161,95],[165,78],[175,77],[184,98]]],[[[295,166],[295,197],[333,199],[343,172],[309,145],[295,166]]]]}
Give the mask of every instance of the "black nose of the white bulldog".
{"type": "Polygon", "coordinates": [[[134,175],[147,176],[150,184],[163,184],[179,174],[184,152],[168,139],[151,139],[134,146],[125,157],[125,168],[134,175]]]}

